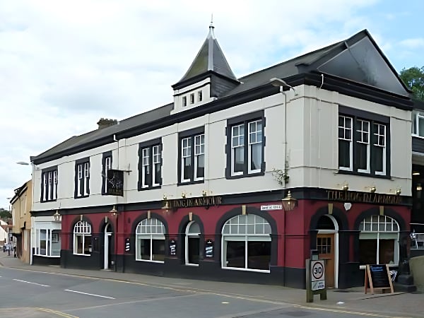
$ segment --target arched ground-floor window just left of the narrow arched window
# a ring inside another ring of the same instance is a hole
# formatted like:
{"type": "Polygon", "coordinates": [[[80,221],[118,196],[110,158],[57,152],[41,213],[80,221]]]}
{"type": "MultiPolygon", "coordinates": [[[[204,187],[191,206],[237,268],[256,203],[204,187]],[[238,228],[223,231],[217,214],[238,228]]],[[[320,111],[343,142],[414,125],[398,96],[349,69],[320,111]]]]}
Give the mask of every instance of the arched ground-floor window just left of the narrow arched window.
{"type": "Polygon", "coordinates": [[[165,259],[165,225],[157,218],[146,218],[136,228],[136,261],[165,259]]]}

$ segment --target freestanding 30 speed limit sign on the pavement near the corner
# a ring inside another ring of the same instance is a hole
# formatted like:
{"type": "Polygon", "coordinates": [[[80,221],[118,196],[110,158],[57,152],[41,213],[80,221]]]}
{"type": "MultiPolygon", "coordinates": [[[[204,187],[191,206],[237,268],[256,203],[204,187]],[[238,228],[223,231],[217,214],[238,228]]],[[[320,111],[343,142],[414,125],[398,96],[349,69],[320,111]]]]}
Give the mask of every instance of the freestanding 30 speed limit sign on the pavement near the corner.
{"type": "Polygon", "coordinates": [[[311,259],[306,260],[306,302],[314,302],[314,295],[326,300],[324,259],[318,259],[317,253],[311,251],[311,259]]]}

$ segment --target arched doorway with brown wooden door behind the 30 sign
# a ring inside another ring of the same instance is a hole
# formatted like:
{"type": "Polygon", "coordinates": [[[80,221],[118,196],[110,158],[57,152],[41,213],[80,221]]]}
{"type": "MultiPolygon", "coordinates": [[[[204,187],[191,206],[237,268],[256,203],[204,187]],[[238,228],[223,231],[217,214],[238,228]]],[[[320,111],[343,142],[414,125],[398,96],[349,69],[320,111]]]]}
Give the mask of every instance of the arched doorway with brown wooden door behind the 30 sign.
{"type": "Polygon", "coordinates": [[[338,288],[338,223],[334,216],[326,214],[317,223],[317,250],[324,259],[327,288],[338,288]]]}

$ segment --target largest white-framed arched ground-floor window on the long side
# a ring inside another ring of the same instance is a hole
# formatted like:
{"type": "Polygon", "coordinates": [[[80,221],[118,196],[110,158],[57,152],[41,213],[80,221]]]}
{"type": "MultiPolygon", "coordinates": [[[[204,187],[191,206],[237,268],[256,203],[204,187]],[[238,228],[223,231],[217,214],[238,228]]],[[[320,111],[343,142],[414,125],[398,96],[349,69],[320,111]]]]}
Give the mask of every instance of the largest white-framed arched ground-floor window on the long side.
{"type": "Polygon", "coordinates": [[[222,230],[222,266],[232,269],[269,271],[271,225],[260,216],[230,218],[222,230]]]}

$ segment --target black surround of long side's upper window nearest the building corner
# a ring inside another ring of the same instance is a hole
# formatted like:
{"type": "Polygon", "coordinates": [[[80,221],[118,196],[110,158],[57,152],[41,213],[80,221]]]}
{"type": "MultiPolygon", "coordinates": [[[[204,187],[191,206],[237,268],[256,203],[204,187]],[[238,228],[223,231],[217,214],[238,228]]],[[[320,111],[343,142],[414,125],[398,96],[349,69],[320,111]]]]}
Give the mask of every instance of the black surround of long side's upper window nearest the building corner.
{"type": "Polygon", "coordinates": [[[256,177],[259,175],[265,175],[265,136],[266,119],[264,110],[257,112],[251,112],[249,114],[243,114],[238,117],[227,119],[227,126],[225,127],[225,135],[227,136],[227,144],[225,145],[225,153],[227,155],[227,166],[225,167],[225,178],[226,179],[239,179],[244,177],[256,177]],[[261,121],[261,167],[259,172],[249,172],[249,123],[254,121],[261,121]],[[242,173],[238,175],[232,174],[232,127],[237,125],[243,125],[244,127],[244,153],[243,153],[243,168],[242,173]]]}

